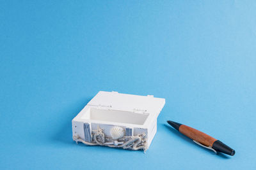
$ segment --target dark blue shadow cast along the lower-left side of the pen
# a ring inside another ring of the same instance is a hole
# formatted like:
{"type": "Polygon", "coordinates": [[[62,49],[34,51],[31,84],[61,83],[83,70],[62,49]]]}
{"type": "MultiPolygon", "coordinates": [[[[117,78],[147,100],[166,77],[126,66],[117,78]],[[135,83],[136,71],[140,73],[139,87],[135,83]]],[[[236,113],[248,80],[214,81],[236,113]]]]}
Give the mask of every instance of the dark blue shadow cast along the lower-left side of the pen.
{"type": "MultiPolygon", "coordinates": [[[[188,141],[189,143],[193,143],[193,145],[195,145],[196,143],[193,142],[192,139],[188,138],[187,136],[185,136],[184,134],[180,133],[179,131],[177,131],[176,129],[173,129],[173,127],[170,127],[170,125],[166,125],[166,124],[162,124],[164,125],[164,127],[166,127],[167,129],[169,129],[170,131],[173,132],[173,134],[179,136],[180,138],[188,141]]],[[[198,148],[203,148],[202,146],[196,145],[198,148]]],[[[203,148],[205,151],[207,152],[211,152],[214,155],[218,155],[218,157],[221,157],[223,159],[230,159],[230,157],[228,157],[227,155],[218,152],[218,154],[213,153],[211,150],[208,150],[207,148],[203,148]]]]}

